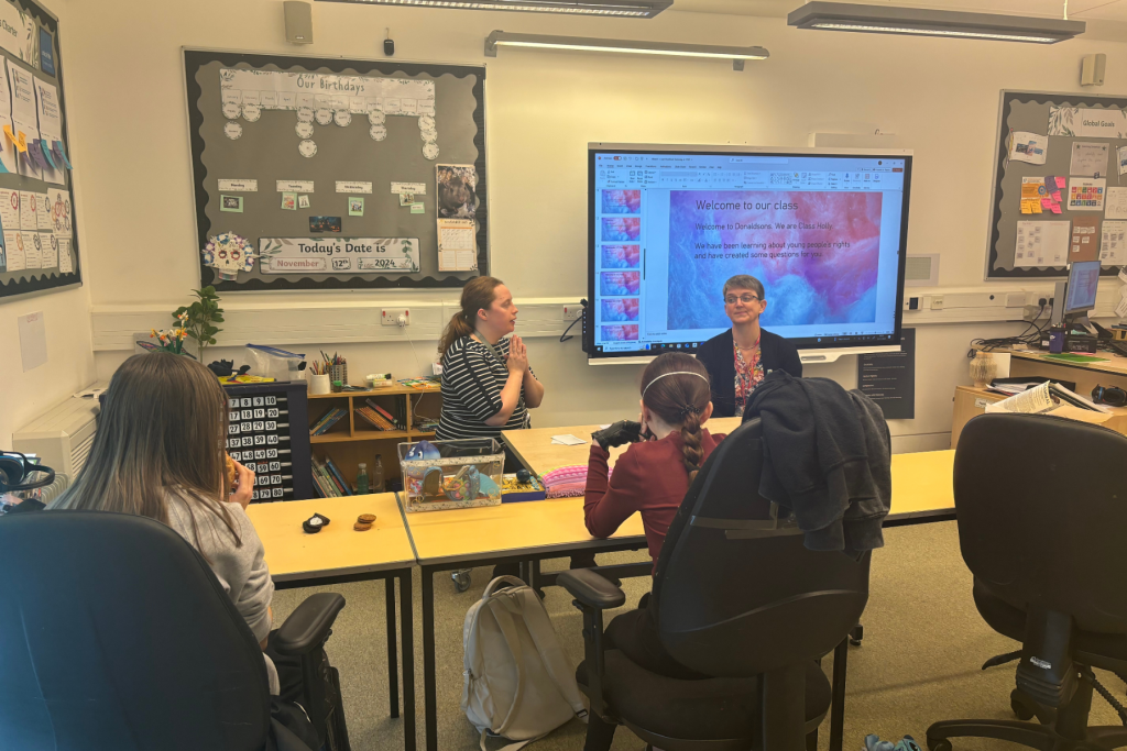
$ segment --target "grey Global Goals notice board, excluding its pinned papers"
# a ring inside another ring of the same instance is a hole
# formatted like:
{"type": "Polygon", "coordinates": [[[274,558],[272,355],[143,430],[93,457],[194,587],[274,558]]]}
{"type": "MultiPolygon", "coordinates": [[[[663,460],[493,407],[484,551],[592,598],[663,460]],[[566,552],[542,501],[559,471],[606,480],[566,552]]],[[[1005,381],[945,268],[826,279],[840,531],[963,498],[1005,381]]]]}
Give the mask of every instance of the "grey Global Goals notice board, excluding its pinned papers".
{"type": "MultiPolygon", "coordinates": [[[[1068,209],[1067,187],[1068,181],[1072,179],[1071,161],[1073,143],[1107,143],[1109,155],[1108,173],[1104,177],[1107,180],[1106,186],[1127,187],[1127,175],[1119,175],[1118,160],[1116,159],[1116,149],[1118,146],[1127,146],[1127,138],[1088,135],[1048,135],[1050,110],[1055,107],[1127,110],[1127,97],[1048,93],[1041,91],[1002,91],[999,132],[994,153],[994,187],[991,197],[992,217],[986,260],[987,279],[1064,278],[1068,275],[1066,266],[1022,268],[1014,265],[1018,222],[1068,220],[1071,223],[1077,216],[1085,218],[1098,216],[1102,226],[1102,211],[1068,209]],[[1011,132],[1047,135],[1048,149],[1046,150],[1045,163],[1032,164],[1009,159],[1008,141],[1011,132]],[[1051,212],[1045,212],[1044,209],[1041,214],[1022,214],[1021,179],[1023,177],[1044,176],[1062,176],[1065,178],[1065,188],[1062,190],[1062,198],[1064,200],[1061,204],[1061,214],[1051,214],[1051,212]]],[[[1054,127],[1053,129],[1056,132],[1062,128],[1054,127]]],[[[1122,135],[1127,136],[1127,133],[1122,135]]],[[[1100,269],[1100,274],[1103,276],[1113,276],[1119,272],[1119,265],[1103,266],[1100,269]]]]}

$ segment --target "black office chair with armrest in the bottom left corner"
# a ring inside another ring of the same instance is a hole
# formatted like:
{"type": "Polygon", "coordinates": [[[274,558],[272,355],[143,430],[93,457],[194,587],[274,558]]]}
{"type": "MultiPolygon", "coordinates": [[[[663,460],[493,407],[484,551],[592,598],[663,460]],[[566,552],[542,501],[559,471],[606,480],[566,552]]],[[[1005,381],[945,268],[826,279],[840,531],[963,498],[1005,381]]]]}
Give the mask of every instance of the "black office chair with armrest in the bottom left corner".
{"type": "MultiPolygon", "coordinates": [[[[349,746],[322,646],[344,605],[310,597],[276,647],[300,655],[302,706],[335,751],[349,746]]],[[[104,511],[0,518],[0,748],[310,751],[273,725],[261,649],[174,530],[104,511]]]]}

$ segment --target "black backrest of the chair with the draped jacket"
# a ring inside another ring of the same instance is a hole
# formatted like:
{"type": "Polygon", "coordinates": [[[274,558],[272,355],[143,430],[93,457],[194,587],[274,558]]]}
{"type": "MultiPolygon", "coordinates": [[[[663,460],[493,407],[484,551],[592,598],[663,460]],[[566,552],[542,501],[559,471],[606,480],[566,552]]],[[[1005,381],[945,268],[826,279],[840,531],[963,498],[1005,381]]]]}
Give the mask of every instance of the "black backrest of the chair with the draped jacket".
{"type": "Polygon", "coordinates": [[[754,419],[701,467],[658,557],[650,609],[662,643],[709,676],[749,677],[822,656],[869,598],[869,554],[807,549],[793,521],[772,520],[758,494],[762,465],[754,419]]]}

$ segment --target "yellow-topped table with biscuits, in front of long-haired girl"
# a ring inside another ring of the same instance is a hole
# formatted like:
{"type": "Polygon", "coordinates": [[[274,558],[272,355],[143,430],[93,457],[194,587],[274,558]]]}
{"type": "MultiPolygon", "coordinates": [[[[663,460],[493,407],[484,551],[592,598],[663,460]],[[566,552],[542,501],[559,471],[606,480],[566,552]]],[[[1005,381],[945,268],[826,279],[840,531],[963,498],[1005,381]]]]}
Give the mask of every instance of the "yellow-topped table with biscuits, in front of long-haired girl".
{"type": "Polygon", "coordinates": [[[415,751],[415,629],[411,605],[411,546],[394,493],[252,503],[247,508],[266,548],[276,589],[316,587],[352,581],[384,581],[388,617],[388,682],[391,716],[399,716],[399,676],[396,654],[396,583],[399,580],[399,618],[403,660],[403,748],[415,751]],[[308,535],[301,522],[321,513],[330,524],[308,535]],[[374,513],[367,531],[353,524],[362,513],[374,513]]]}

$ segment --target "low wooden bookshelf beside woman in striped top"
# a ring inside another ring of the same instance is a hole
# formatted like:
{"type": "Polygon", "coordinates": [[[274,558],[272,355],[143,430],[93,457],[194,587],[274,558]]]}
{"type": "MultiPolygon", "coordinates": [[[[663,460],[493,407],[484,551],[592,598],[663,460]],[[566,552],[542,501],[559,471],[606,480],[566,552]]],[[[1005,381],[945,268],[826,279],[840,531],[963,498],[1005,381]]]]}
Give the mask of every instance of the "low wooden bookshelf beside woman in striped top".
{"type": "Polygon", "coordinates": [[[312,454],[323,462],[332,459],[345,480],[355,488],[356,470],[360,463],[367,464],[369,477],[380,455],[383,464],[383,480],[400,479],[399,444],[412,442],[423,438],[434,438],[434,431],[417,430],[417,418],[438,419],[442,413],[442,392],[423,391],[408,386],[388,386],[370,391],[344,391],[340,393],[317,394],[309,396],[309,426],[317,422],[334,406],[348,411],[347,417],[329,428],[320,436],[311,436],[312,454]],[[366,405],[366,400],[385,409],[396,417],[406,430],[378,430],[364,418],[356,414],[356,409],[366,405]]]}

